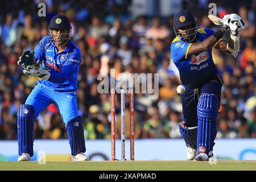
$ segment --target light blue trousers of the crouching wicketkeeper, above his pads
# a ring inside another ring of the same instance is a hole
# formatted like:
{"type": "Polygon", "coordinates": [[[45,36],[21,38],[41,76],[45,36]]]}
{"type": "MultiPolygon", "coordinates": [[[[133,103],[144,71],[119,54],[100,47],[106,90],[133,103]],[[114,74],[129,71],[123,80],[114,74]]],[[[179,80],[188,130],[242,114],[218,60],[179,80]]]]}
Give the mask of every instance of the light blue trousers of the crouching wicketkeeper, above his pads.
{"type": "Polygon", "coordinates": [[[35,110],[35,118],[46,107],[55,104],[60,111],[61,117],[67,126],[67,122],[76,118],[78,114],[76,92],[56,92],[46,85],[38,84],[28,96],[26,103],[32,105],[35,110]]]}

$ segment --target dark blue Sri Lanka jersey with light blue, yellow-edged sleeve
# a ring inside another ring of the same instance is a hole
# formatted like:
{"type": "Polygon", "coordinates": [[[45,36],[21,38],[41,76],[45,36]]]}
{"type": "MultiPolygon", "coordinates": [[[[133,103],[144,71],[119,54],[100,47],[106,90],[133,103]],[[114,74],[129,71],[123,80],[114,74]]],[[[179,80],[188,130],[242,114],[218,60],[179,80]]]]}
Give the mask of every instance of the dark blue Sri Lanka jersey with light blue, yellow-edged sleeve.
{"type": "MultiPolygon", "coordinates": [[[[207,39],[214,33],[213,30],[201,28],[197,31],[199,42],[207,39]]],[[[182,42],[177,36],[171,44],[171,55],[180,72],[180,80],[188,88],[201,88],[205,82],[217,75],[216,65],[212,59],[212,49],[188,55],[192,43],[182,42]]]]}

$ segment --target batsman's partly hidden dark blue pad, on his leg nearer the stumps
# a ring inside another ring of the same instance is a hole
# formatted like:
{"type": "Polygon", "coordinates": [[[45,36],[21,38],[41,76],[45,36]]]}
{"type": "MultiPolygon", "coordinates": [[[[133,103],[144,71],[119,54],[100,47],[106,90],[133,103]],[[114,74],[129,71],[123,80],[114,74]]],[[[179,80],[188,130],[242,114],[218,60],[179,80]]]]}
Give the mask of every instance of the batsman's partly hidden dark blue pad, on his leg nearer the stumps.
{"type": "Polygon", "coordinates": [[[183,122],[179,123],[180,134],[185,140],[186,146],[196,149],[197,126],[186,127],[183,122]]]}

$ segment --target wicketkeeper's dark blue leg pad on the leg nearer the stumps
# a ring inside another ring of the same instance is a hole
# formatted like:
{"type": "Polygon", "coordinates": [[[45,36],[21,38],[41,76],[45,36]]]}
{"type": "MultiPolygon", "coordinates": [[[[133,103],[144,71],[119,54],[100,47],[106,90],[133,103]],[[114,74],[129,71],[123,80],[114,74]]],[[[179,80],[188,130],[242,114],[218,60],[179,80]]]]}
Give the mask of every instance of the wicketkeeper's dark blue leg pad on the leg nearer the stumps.
{"type": "Polygon", "coordinates": [[[84,127],[82,118],[77,116],[67,123],[67,132],[71,154],[76,156],[80,152],[85,152],[84,127]]]}

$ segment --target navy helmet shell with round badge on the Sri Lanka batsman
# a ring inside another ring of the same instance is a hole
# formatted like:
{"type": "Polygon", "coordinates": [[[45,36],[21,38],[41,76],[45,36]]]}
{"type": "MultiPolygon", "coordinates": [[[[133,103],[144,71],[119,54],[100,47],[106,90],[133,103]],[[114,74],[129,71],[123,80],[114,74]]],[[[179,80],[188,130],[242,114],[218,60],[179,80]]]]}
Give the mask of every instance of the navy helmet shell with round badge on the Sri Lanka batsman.
{"type": "Polygon", "coordinates": [[[188,26],[189,24],[196,24],[194,16],[187,10],[179,11],[174,16],[174,27],[180,28],[188,26]]]}

